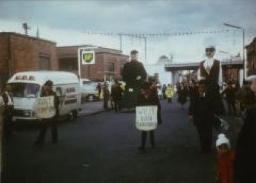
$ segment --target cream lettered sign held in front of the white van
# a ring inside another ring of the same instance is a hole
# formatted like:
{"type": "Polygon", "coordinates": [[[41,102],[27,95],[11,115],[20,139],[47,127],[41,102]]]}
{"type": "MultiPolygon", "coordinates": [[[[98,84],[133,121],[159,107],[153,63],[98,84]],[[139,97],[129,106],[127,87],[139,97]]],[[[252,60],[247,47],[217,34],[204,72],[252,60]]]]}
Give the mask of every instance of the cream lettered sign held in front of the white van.
{"type": "Polygon", "coordinates": [[[38,118],[51,118],[55,115],[54,96],[45,96],[37,99],[36,115],[38,118]]]}

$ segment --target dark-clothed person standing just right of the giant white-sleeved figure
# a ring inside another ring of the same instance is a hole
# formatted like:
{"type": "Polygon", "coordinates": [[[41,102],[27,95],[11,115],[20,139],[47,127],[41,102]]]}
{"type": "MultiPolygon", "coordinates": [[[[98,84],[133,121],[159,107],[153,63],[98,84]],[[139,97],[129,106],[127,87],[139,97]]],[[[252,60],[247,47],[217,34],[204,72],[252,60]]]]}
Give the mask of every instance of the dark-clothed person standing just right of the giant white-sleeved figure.
{"type": "Polygon", "coordinates": [[[236,115],[236,89],[232,87],[232,83],[228,82],[228,87],[225,89],[222,94],[225,95],[225,99],[227,100],[228,105],[228,114],[231,115],[231,108],[233,109],[234,115],[236,115]]]}

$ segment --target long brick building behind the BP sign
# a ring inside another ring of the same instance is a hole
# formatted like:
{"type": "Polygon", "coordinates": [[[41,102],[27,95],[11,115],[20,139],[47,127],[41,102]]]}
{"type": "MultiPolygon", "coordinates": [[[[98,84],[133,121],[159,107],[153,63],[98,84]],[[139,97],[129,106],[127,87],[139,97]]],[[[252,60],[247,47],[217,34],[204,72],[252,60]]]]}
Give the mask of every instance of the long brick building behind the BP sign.
{"type": "MultiPolygon", "coordinates": [[[[61,71],[72,71],[78,73],[77,51],[79,47],[93,47],[92,45],[76,45],[57,47],[59,65],[61,71]]],[[[104,79],[121,78],[122,68],[129,61],[128,55],[122,51],[104,47],[94,47],[95,64],[81,65],[81,77],[94,81],[104,79]]]]}

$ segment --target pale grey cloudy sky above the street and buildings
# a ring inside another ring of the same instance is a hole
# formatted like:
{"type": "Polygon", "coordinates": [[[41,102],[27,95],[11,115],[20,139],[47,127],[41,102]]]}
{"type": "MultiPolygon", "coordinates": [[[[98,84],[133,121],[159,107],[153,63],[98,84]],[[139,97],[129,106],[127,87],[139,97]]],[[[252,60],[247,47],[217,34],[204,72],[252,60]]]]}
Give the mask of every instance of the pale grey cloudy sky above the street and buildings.
{"type": "MultiPolygon", "coordinates": [[[[223,22],[227,22],[244,27],[246,30],[246,43],[248,43],[253,36],[256,36],[255,6],[255,0],[0,1],[0,31],[21,32],[21,23],[28,22],[33,27],[33,30],[31,30],[33,34],[35,34],[35,27],[40,27],[40,31],[44,30],[40,34],[44,38],[57,41],[58,45],[74,45],[90,43],[88,41],[92,40],[92,36],[90,38],[87,37],[87,41],[79,42],[75,35],[68,35],[77,33],[77,36],[81,36],[88,29],[113,33],[186,32],[205,29],[227,29],[227,27],[223,26],[223,22]],[[47,27],[47,29],[44,29],[44,27],[47,27]]],[[[179,57],[179,60],[182,61],[188,61],[189,58],[196,60],[199,59],[196,54],[202,57],[202,54],[198,54],[198,52],[200,50],[204,52],[205,39],[214,40],[216,43],[226,39],[225,41],[227,42],[228,40],[229,42],[225,47],[223,46],[223,49],[230,52],[235,50],[232,52],[232,54],[235,54],[237,47],[241,48],[239,45],[240,38],[241,34],[231,33],[211,36],[211,38],[207,35],[201,36],[200,41],[197,41],[198,38],[196,37],[166,38],[166,40],[160,41],[151,39],[148,41],[148,51],[154,52],[154,55],[152,55],[154,60],[161,54],[168,55],[170,53],[176,54],[176,57],[179,57]],[[164,41],[166,43],[163,43],[164,41]],[[182,49],[186,46],[191,48],[191,51],[189,53],[187,49],[188,53],[182,55],[182,49]]],[[[111,42],[109,42],[109,38],[92,40],[93,44],[118,47],[118,38],[113,38],[111,42]],[[102,41],[100,42],[100,40],[102,41]],[[106,41],[108,41],[109,45],[106,44],[106,41]]],[[[132,44],[128,45],[128,42],[128,40],[125,42],[127,46],[125,53],[128,53],[132,47],[132,44]]],[[[136,44],[138,50],[143,52],[143,43],[138,42],[136,44]]],[[[150,54],[148,57],[150,57],[150,54]]]]}

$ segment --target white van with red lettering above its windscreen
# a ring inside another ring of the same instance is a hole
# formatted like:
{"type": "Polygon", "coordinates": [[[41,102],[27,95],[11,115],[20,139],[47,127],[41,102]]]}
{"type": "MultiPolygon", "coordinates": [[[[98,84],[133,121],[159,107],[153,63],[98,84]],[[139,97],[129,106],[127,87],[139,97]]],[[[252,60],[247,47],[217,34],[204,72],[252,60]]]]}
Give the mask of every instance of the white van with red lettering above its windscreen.
{"type": "Polygon", "coordinates": [[[53,90],[60,98],[60,115],[74,118],[81,108],[79,79],[74,73],[62,71],[29,71],[13,75],[8,81],[12,86],[15,120],[36,120],[35,102],[42,86],[52,80],[53,90]]]}

